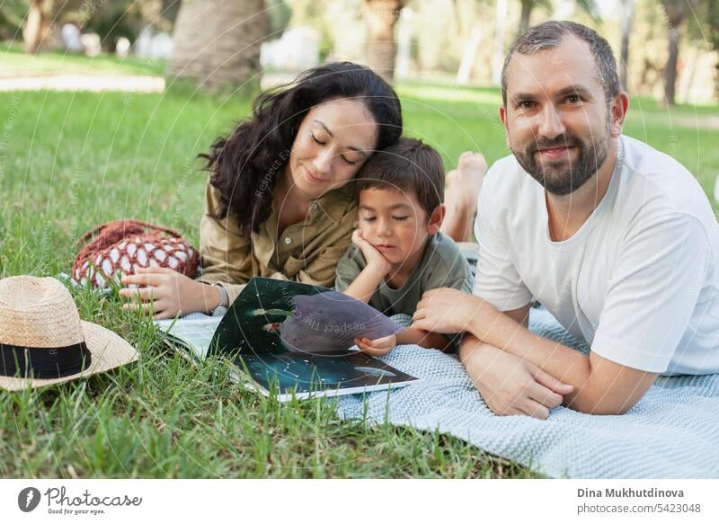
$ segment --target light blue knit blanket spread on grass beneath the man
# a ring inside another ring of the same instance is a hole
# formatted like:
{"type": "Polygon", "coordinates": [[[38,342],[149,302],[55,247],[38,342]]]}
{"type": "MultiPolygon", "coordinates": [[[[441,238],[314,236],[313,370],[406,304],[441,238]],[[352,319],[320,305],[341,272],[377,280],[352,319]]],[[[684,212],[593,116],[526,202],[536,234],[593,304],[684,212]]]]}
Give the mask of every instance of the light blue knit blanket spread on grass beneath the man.
{"type": "MultiPolygon", "coordinates": [[[[408,320],[395,317],[401,324],[408,320]]],[[[589,350],[545,310],[533,309],[529,326],[589,350]]],[[[660,377],[621,416],[557,407],[540,421],[494,415],[457,358],[439,350],[404,345],[383,360],[422,382],[390,393],[342,396],[337,404],[343,419],[439,430],[552,477],[719,477],[719,375],[660,377]]]]}

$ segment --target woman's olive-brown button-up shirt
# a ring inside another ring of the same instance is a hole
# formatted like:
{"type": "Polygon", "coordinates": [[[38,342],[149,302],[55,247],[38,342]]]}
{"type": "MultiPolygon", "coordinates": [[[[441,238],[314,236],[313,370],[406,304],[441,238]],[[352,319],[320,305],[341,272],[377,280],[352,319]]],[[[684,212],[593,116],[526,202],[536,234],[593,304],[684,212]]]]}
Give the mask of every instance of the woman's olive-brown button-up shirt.
{"type": "Polygon", "coordinates": [[[258,232],[245,238],[236,217],[215,217],[219,205],[219,190],[208,183],[200,221],[198,279],[222,285],[230,303],[253,276],[333,287],[337,262],[358,223],[351,183],[316,199],[305,222],[288,226],[280,237],[277,213],[272,212],[258,232]]]}

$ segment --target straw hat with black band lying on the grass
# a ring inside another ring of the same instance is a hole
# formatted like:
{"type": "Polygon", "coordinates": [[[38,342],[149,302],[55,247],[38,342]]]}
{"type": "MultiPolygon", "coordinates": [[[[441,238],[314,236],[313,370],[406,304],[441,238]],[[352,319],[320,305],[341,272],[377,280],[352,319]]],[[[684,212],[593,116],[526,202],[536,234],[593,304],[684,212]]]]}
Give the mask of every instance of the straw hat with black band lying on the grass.
{"type": "Polygon", "coordinates": [[[136,359],[138,351],[120,336],[80,320],[57,279],[0,279],[0,388],[54,385],[136,359]]]}

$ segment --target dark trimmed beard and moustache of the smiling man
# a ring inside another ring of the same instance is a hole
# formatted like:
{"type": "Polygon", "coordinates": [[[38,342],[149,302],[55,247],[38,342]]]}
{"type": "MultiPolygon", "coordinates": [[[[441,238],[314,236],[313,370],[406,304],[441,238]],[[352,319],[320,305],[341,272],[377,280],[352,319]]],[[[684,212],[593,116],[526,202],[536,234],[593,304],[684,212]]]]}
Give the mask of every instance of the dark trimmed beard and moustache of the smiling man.
{"type": "Polygon", "coordinates": [[[523,151],[514,147],[511,150],[522,169],[537,180],[547,192],[555,196],[566,196],[577,191],[599,171],[599,167],[607,160],[610,136],[609,122],[607,122],[604,135],[589,144],[580,137],[564,133],[551,140],[537,139],[523,151]],[[538,158],[539,149],[572,146],[577,149],[576,160],[564,157],[553,162],[538,158]]]}

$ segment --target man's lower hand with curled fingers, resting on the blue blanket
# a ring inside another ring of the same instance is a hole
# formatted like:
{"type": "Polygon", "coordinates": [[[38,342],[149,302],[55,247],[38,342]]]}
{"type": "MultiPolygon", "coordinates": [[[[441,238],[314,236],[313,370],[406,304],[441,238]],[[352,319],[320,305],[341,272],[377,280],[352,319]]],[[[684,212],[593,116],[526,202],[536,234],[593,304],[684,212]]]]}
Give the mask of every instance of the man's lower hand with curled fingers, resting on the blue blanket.
{"type": "Polygon", "coordinates": [[[573,386],[536,365],[475,338],[463,341],[459,354],[484,403],[495,414],[546,420],[549,409],[561,405],[564,394],[573,392],[573,386]]]}

